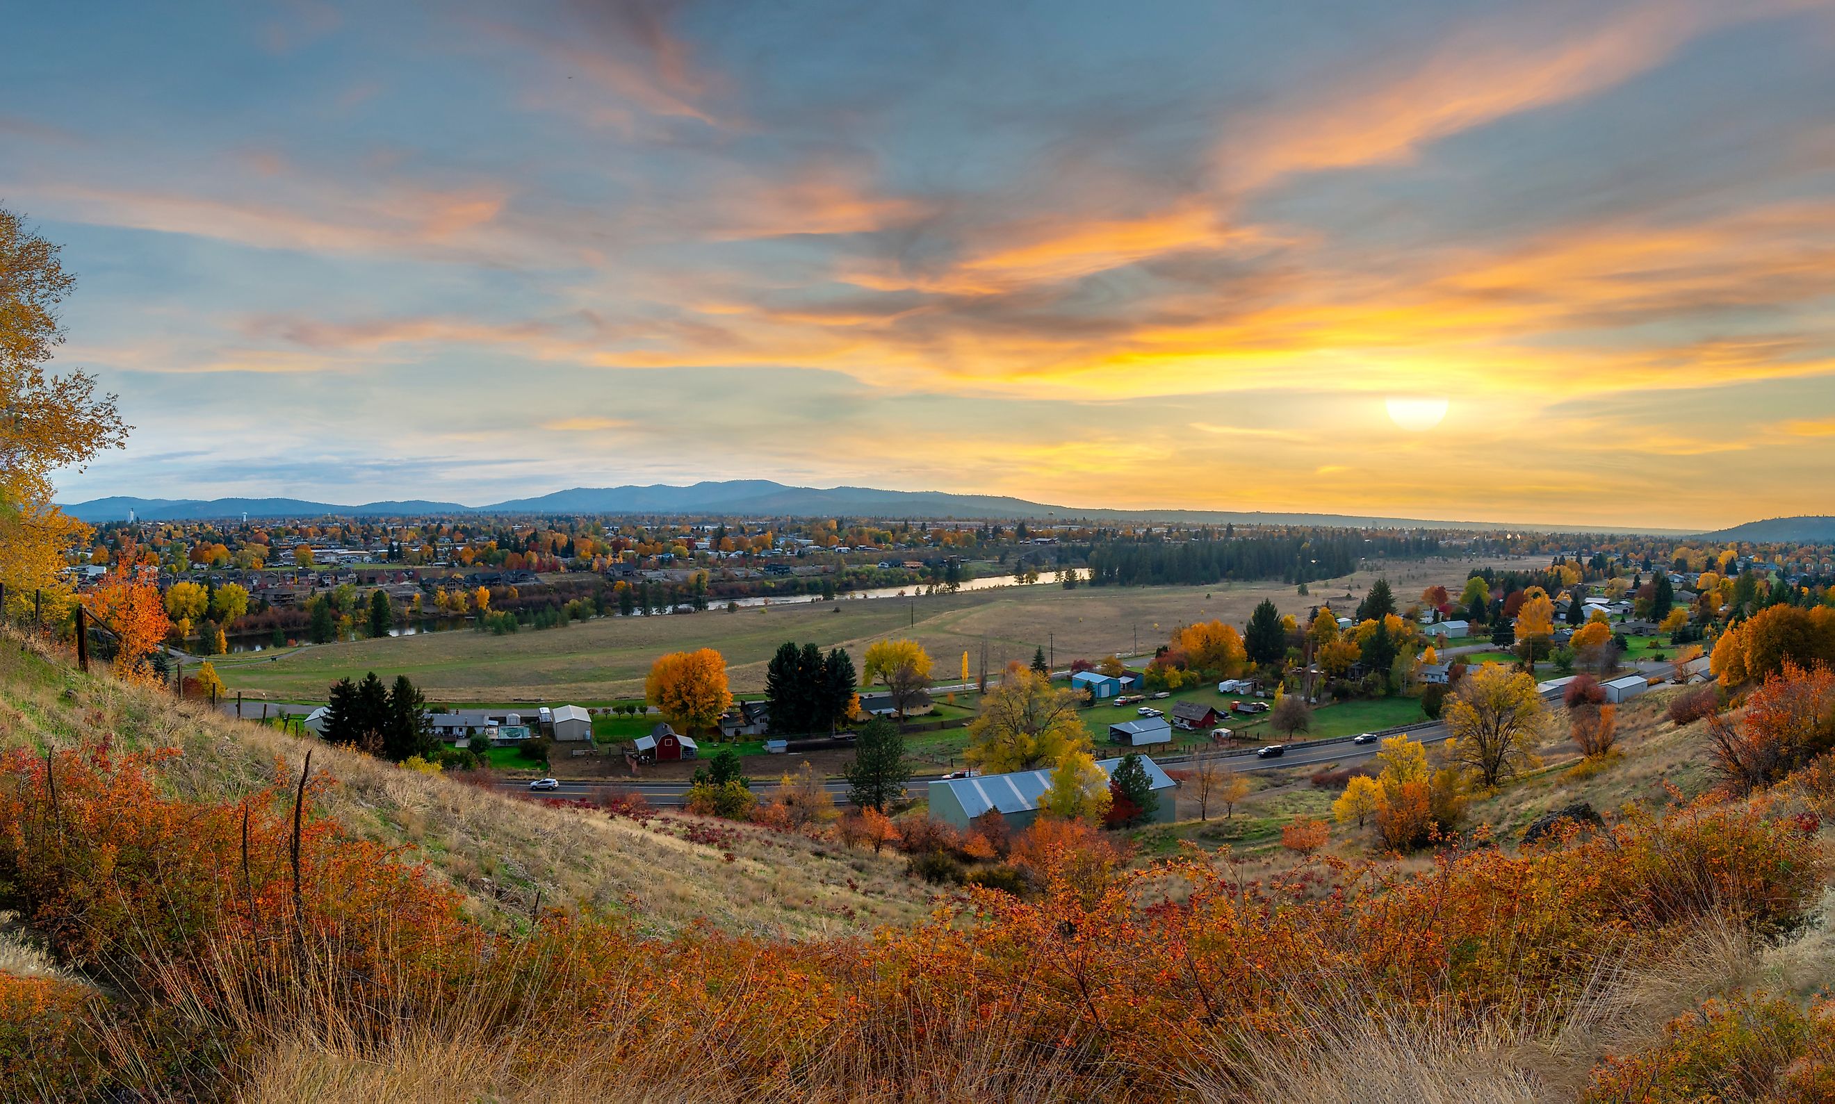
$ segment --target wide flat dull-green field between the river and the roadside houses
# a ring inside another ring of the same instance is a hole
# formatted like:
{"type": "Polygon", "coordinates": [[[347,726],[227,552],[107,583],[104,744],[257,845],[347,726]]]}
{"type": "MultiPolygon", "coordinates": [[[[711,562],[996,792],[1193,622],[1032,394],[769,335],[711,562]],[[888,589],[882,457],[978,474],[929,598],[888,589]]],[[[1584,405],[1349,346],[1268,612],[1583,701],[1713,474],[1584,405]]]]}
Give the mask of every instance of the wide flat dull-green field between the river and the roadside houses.
{"type": "MultiPolygon", "coordinates": [[[[1380,574],[1391,580],[1406,603],[1429,583],[1461,583],[1470,567],[1472,561],[1459,559],[1418,561],[1389,565],[1380,574]]],[[[1220,618],[1240,625],[1262,598],[1272,598],[1281,613],[1305,616],[1314,603],[1340,600],[1347,591],[1362,596],[1376,574],[1358,572],[1349,580],[1314,583],[1310,596],[1283,583],[1075,591],[1040,583],[929,598],[598,618],[512,636],[459,629],[321,644],[273,657],[220,657],[217,673],[231,691],[270,701],[323,701],[338,679],[376,671],[385,680],[407,675],[428,699],[440,702],[602,702],[640,695],[650,664],[666,651],[719,649],[727,657],[732,688],[756,691],[763,688],[765,662],[785,640],[842,646],[859,666],[868,644],[910,636],[934,657],[936,682],[952,684],[960,680],[963,653],[969,653],[971,675],[980,669],[984,644],[989,671],[1009,660],[1029,662],[1033,649],[1048,644],[1059,668],[1073,658],[1132,653],[1136,638],[1140,649],[1151,655],[1180,624],[1220,618]]],[[[1340,605],[1345,602],[1340,600],[1340,605]]]]}

